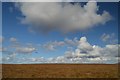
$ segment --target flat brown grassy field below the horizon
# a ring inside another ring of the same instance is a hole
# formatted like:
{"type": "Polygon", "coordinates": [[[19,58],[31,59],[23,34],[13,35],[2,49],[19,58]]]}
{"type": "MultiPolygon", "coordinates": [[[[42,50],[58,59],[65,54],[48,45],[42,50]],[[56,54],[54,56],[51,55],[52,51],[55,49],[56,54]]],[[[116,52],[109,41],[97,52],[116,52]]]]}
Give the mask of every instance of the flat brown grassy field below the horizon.
{"type": "Polygon", "coordinates": [[[3,78],[117,78],[117,64],[3,64],[3,78]]]}

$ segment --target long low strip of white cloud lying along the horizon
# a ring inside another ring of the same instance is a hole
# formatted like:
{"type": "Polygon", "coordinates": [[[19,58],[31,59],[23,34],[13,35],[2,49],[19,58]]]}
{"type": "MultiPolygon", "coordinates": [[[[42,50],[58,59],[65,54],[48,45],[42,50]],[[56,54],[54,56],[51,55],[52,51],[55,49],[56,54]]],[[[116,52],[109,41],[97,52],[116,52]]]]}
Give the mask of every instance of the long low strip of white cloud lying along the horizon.
{"type": "Polygon", "coordinates": [[[44,57],[33,57],[33,58],[19,58],[18,64],[26,63],[117,63],[118,58],[116,57],[96,57],[96,58],[66,58],[64,56],[58,56],[56,58],[44,58],[44,57]]]}

